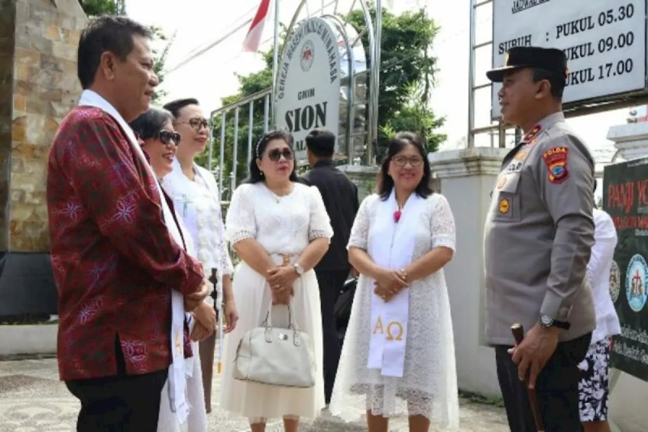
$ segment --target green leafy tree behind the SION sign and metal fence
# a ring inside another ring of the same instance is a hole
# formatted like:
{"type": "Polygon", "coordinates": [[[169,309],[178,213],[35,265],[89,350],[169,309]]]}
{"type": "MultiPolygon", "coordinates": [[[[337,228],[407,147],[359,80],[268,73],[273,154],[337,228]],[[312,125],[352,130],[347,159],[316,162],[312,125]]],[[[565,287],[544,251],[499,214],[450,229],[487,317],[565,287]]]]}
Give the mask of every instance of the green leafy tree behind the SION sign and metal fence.
{"type": "MultiPolygon", "coordinates": [[[[370,10],[372,16],[375,8],[370,10]]],[[[364,14],[354,10],[348,16],[356,29],[365,28],[364,14]]],[[[445,119],[434,115],[430,108],[430,91],[435,84],[435,58],[430,56],[434,37],[439,32],[434,19],[426,10],[406,12],[395,16],[383,12],[380,88],[378,93],[378,159],[384,154],[388,139],[397,131],[418,132],[426,138],[426,150],[436,151],[446,136],[435,132],[445,119]]],[[[284,30],[281,40],[286,32],[284,30]]],[[[365,52],[369,53],[369,40],[362,36],[365,52]]],[[[281,52],[281,50],[280,50],[281,52]]],[[[238,75],[238,92],[224,97],[223,106],[240,101],[272,87],[272,50],[264,53],[266,67],[249,75],[238,75]]],[[[371,87],[369,88],[371,91],[371,87]]],[[[237,184],[247,175],[248,157],[248,105],[239,110],[237,146],[237,184]]],[[[263,101],[255,102],[253,115],[253,147],[263,131],[263,101]]],[[[214,153],[213,171],[217,173],[220,157],[218,143],[221,136],[220,118],[213,119],[214,153]]],[[[224,154],[224,198],[229,196],[229,175],[233,168],[234,114],[226,115],[226,150],[224,154]]],[[[254,149],[253,149],[254,150],[254,149]]],[[[198,156],[198,163],[207,166],[207,152],[198,156]]]]}

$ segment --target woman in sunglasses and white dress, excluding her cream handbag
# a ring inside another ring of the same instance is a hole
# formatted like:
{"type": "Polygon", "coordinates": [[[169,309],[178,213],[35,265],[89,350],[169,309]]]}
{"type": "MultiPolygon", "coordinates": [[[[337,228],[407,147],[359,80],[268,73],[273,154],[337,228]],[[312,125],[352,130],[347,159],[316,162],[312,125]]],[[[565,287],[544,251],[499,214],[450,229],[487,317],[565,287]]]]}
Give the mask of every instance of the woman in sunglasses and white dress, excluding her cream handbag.
{"type": "Polygon", "coordinates": [[[249,418],[252,432],[265,430],[270,418],[284,419],[297,432],[299,418],[315,418],[324,407],[322,374],[310,389],[271,387],[233,378],[240,339],[266,316],[288,324],[290,302],[299,329],[312,339],[317,370],[322,370],[322,328],[318,281],[313,267],[333,235],[329,215],[316,187],[297,183],[292,137],[268,132],[250,161],[250,178],[234,192],[226,217],[227,239],[242,259],[234,273],[239,310],[237,328],[225,339],[221,405],[249,418]]]}

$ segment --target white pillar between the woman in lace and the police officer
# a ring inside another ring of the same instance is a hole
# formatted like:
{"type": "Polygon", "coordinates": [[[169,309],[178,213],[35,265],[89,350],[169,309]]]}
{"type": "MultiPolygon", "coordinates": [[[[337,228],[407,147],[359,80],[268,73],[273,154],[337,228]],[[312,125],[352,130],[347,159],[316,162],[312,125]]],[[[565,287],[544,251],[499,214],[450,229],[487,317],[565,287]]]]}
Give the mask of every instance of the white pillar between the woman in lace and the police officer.
{"type": "Polygon", "coordinates": [[[457,254],[446,266],[445,275],[459,388],[491,396],[500,394],[500,388],[494,350],[483,344],[483,227],[491,191],[507,151],[475,147],[428,155],[456,221],[457,254]]]}

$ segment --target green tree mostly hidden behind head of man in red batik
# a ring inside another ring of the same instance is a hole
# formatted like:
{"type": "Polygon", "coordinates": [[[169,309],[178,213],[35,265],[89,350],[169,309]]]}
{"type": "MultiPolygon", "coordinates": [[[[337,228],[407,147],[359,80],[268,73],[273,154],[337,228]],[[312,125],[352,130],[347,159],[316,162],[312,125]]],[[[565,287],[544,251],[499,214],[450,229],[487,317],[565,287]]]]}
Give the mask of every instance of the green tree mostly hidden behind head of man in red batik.
{"type": "MultiPolygon", "coordinates": [[[[84,12],[86,12],[86,15],[89,17],[99,15],[126,16],[126,0],[78,0],[78,2],[79,5],[81,5],[81,7],[83,8],[84,12]]],[[[155,71],[157,78],[159,78],[161,84],[164,80],[164,69],[167,60],[167,54],[176,35],[174,34],[171,38],[167,38],[167,35],[164,34],[162,29],[155,25],[152,25],[150,27],[150,30],[153,34],[154,41],[153,70],[155,71]]],[[[165,91],[157,90],[155,93],[153,93],[153,103],[157,104],[160,99],[165,97],[165,95],[165,91]]]]}

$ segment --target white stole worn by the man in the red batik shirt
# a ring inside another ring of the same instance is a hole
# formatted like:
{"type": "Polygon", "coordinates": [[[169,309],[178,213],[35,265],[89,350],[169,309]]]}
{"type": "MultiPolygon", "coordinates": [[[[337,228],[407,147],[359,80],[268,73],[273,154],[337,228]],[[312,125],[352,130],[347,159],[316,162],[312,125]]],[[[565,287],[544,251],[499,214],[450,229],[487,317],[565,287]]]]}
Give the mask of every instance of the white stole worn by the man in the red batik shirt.
{"type": "MultiPolygon", "coordinates": [[[[128,137],[128,141],[132,149],[137,154],[137,157],[141,159],[144,163],[146,169],[148,169],[152,178],[157,178],[156,174],[153,172],[153,169],[146,162],[146,157],[144,152],[141,149],[137,138],[135,138],[135,132],[128,126],[128,123],[124,121],[123,117],[115,110],[115,108],[106,101],[103,97],[91,90],[84,90],[81,93],[81,99],[79,100],[78,106],[93,106],[95,108],[100,108],[104,110],[107,114],[110,114],[113,119],[119,123],[122,130],[128,137]]],[[[157,182],[156,182],[157,185],[157,182]]],[[[164,215],[165,222],[167,224],[168,232],[173,237],[173,239],[182,245],[182,236],[180,230],[175,222],[174,215],[171,212],[165,199],[161,187],[157,186],[157,192],[159,193],[159,199],[162,206],[162,211],[164,215]]],[[[185,235],[185,240],[189,237],[185,235]]],[[[189,248],[187,244],[187,248],[189,248]]],[[[187,251],[190,253],[189,251],[187,251]]],[[[191,253],[190,253],[191,254],[191,253]]],[[[176,414],[180,424],[183,424],[187,421],[189,416],[189,403],[187,402],[187,379],[185,378],[185,368],[189,365],[185,364],[185,344],[184,344],[184,322],[185,322],[185,307],[183,296],[179,291],[175,289],[171,291],[171,353],[172,353],[172,363],[169,366],[168,370],[168,389],[169,389],[169,400],[171,402],[171,411],[176,414]]]]}

